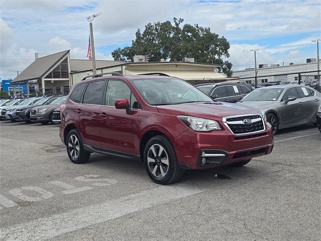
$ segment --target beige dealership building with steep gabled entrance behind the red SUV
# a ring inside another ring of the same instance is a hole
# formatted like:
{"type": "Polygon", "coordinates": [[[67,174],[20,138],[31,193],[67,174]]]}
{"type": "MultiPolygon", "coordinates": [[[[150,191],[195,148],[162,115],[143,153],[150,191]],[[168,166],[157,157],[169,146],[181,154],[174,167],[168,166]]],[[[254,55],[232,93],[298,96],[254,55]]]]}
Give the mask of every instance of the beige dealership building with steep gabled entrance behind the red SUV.
{"type": "MultiPolygon", "coordinates": [[[[36,84],[44,94],[68,93],[71,86],[84,77],[92,75],[92,61],[70,59],[69,50],[39,57],[23,70],[12,83],[27,84],[29,93],[30,83],[36,84]]],[[[118,72],[123,75],[147,73],[163,73],[182,78],[186,81],[222,81],[226,77],[217,72],[220,65],[195,63],[193,58],[185,58],[179,62],[147,62],[146,56],[134,56],[134,62],[96,60],[96,73],[118,72]]]]}

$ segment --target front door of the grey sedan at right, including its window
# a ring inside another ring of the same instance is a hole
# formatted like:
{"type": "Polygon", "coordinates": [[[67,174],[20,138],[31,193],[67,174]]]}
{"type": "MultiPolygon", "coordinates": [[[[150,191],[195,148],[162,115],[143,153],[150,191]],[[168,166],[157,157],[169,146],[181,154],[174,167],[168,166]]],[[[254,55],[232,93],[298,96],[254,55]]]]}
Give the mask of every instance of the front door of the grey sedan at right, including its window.
{"type": "Polygon", "coordinates": [[[280,126],[282,127],[296,126],[303,123],[303,102],[299,98],[295,87],[290,87],[285,90],[281,97],[278,112],[281,117],[280,126]],[[287,100],[289,96],[294,96],[296,99],[285,103],[285,100],[287,100]]]}

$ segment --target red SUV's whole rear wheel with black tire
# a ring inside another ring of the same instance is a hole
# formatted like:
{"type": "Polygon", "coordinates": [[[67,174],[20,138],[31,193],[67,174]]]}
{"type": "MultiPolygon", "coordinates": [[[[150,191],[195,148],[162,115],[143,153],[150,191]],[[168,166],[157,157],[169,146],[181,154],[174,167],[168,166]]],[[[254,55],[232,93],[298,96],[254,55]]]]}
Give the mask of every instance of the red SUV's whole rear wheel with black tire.
{"type": "Polygon", "coordinates": [[[89,160],[90,152],[85,151],[80,133],[78,132],[77,129],[73,129],[68,133],[67,140],[66,140],[66,148],[67,148],[68,157],[70,161],[72,161],[73,163],[81,164],[89,160]],[[77,141],[74,141],[75,140],[74,137],[76,137],[76,140],[78,141],[78,148],[79,148],[78,151],[76,148],[77,141]]]}

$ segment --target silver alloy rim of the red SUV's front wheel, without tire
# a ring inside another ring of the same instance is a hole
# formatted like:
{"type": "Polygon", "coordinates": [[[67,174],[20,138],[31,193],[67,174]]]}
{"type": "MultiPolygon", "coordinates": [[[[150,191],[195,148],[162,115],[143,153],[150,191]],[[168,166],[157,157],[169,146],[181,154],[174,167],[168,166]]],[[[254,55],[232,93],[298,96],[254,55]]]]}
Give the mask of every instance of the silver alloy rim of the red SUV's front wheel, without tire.
{"type": "Polygon", "coordinates": [[[152,145],[147,154],[147,164],[150,172],[157,178],[163,178],[169,171],[169,156],[164,147],[152,145]]]}

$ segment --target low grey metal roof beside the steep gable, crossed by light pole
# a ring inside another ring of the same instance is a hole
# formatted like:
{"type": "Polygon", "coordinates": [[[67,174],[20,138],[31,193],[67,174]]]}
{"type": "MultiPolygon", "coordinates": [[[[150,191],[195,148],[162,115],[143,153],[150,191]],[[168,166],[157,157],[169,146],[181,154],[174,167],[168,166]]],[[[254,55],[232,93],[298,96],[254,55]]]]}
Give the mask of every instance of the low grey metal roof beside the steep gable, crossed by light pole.
{"type": "MultiPolygon", "coordinates": [[[[121,65],[127,62],[113,61],[113,60],[96,60],[96,68],[106,68],[114,65],[121,65]]],[[[88,59],[71,59],[70,60],[71,72],[88,71],[92,70],[92,61],[88,59]]]]}

